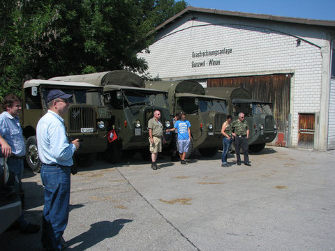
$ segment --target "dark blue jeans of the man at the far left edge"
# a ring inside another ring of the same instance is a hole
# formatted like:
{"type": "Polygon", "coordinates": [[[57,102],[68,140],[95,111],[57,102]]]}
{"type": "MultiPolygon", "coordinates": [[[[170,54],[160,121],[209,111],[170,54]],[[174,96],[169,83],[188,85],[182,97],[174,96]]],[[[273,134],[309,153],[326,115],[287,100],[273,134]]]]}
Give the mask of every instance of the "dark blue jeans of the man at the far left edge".
{"type": "MultiPolygon", "coordinates": [[[[22,200],[22,205],[24,204],[24,194],[22,190],[22,176],[23,176],[23,159],[17,158],[8,158],[7,165],[9,172],[12,172],[15,176],[15,179],[19,183],[19,195],[22,200]]],[[[28,226],[28,222],[24,220],[24,214],[22,213],[19,218],[16,220],[20,224],[20,229],[28,226]]]]}

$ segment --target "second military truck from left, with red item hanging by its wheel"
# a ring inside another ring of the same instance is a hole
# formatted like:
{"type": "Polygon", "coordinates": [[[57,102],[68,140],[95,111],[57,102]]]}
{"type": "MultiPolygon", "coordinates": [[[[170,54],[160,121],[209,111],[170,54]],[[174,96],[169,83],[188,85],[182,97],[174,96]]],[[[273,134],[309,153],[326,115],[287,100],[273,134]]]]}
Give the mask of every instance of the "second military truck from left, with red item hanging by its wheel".
{"type": "MultiPolygon", "coordinates": [[[[154,110],[161,111],[164,132],[172,128],[172,117],[168,106],[168,93],[144,88],[142,77],[127,70],[54,77],[54,80],[87,82],[103,86],[105,104],[109,108],[111,128],[117,133],[117,140],[108,143],[108,160],[117,162],[121,154],[132,156],[137,151],[142,158],[150,158],[148,121],[154,110]]],[[[167,144],[170,135],[165,134],[167,144]]]]}

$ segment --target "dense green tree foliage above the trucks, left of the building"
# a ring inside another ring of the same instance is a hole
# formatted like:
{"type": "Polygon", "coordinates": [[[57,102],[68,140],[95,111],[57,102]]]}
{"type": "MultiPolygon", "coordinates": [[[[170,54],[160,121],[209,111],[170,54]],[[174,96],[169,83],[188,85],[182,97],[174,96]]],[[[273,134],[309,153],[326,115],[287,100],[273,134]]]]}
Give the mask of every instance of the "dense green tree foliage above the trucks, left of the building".
{"type": "Polygon", "coordinates": [[[127,68],[144,75],[148,32],[186,8],[174,0],[2,0],[0,97],[22,79],[127,68]]]}

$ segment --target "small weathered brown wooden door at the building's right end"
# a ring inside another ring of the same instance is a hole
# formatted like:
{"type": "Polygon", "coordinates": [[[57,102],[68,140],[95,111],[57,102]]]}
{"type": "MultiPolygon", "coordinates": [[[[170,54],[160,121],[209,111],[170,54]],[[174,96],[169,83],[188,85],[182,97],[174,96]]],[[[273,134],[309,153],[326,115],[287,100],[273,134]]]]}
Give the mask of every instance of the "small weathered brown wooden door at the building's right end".
{"type": "Polygon", "coordinates": [[[315,114],[299,114],[298,146],[314,148],[315,114]]]}

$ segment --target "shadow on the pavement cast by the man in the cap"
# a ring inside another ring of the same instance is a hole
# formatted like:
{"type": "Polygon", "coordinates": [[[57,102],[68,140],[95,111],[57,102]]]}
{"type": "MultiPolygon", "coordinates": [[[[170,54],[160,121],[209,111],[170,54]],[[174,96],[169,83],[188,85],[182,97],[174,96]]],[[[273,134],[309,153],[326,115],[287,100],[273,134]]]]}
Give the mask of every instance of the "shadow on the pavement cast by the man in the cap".
{"type": "Polygon", "coordinates": [[[118,219],[113,222],[102,221],[96,222],[91,225],[91,229],[89,231],[80,234],[79,236],[66,241],[66,245],[70,247],[71,245],[75,245],[75,243],[80,243],[74,248],[68,248],[68,250],[87,250],[92,246],[96,245],[103,241],[105,238],[111,238],[119,234],[119,231],[124,227],[124,224],[128,222],[132,222],[133,220],[127,219],[118,219]]]}

